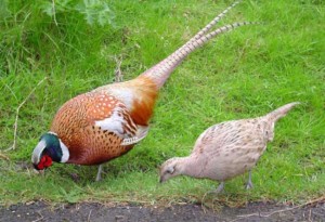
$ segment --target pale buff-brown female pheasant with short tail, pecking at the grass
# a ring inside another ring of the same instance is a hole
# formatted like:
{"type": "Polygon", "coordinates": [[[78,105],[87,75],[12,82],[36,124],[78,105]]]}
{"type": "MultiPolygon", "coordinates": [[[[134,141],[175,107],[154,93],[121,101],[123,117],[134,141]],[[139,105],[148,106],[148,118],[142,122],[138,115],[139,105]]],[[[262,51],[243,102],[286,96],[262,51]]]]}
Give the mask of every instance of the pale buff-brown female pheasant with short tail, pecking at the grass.
{"type": "Polygon", "coordinates": [[[224,181],[249,171],[246,188],[252,187],[251,169],[274,138],[274,125],[295,105],[289,103],[270,114],[252,118],[225,121],[204,131],[187,157],[168,159],[160,168],[160,182],[184,174],[220,181],[214,191],[224,187],[224,181]]]}

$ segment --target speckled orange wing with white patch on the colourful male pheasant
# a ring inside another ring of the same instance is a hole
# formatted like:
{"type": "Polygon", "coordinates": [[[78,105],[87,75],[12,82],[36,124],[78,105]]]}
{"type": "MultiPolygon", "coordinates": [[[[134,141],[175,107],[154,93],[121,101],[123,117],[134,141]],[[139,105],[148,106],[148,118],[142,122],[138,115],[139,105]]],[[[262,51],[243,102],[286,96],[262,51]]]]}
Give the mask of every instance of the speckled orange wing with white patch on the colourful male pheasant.
{"type": "Polygon", "coordinates": [[[138,131],[125,104],[105,92],[89,92],[66,102],[56,113],[51,131],[69,141],[69,136],[89,126],[121,139],[133,138],[138,131]]]}

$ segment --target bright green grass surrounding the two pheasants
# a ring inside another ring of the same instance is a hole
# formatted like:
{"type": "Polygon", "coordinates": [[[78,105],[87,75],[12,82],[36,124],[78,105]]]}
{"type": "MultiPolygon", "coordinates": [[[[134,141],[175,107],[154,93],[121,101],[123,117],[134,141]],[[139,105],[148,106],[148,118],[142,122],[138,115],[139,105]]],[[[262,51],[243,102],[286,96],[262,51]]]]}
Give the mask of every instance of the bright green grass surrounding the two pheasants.
{"type": "Polygon", "coordinates": [[[78,13],[57,14],[56,26],[32,2],[12,2],[3,4],[11,13],[0,17],[0,152],[10,157],[0,159],[0,204],[200,201],[216,182],[180,177],[160,185],[159,165],[188,155],[213,123],[260,116],[294,101],[302,105],[277,122],[274,142],[253,170],[255,188],[244,190],[243,175],[216,198],[226,204],[306,201],[324,195],[325,2],[246,0],[237,5],[223,23],[264,25],[239,28],[188,56],[161,90],[148,136],[107,162],[100,183],[93,182],[96,167],[56,164],[44,177],[31,170],[31,152],[58,107],[112,82],[115,55],[122,56],[125,79],[131,79],[232,1],[107,0],[115,14],[112,26],[90,26],[78,13]],[[16,149],[5,153],[13,142],[16,107],[44,76],[49,79],[21,109],[16,149]]]}

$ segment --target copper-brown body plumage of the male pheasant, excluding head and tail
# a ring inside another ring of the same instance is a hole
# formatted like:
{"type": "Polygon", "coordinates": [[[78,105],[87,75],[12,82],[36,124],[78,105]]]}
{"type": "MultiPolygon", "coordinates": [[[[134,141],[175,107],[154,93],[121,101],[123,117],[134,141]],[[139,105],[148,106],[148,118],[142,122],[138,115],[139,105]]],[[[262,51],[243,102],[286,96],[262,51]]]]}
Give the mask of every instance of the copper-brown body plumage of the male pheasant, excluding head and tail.
{"type": "Polygon", "coordinates": [[[78,165],[99,165],[121,156],[133,145],[121,145],[122,138],[116,132],[95,126],[95,121],[117,115],[122,118],[122,131],[132,138],[138,126],[147,126],[153,115],[157,89],[150,79],[139,77],[134,80],[101,87],[78,95],[66,102],[56,113],[51,132],[57,134],[69,149],[67,162],[78,165]],[[114,96],[110,90],[135,89],[136,99],[128,108],[121,99],[114,96]]]}

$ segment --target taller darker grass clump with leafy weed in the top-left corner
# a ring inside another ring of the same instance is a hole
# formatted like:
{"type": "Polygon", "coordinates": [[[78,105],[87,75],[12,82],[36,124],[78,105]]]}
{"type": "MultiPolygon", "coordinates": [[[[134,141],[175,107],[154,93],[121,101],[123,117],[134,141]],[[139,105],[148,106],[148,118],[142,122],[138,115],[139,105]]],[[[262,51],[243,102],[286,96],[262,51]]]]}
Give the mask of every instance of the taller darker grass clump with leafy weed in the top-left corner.
{"type": "Polygon", "coordinates": [[[57,60],[70,63],[93,47],[98,49],[99,29],[109,32],[112,26],[106,25],[114,22],[107,3],[100,2],[2,1],[2,75],[16,71],[18,64],[50,69],[57,60]],[[92,35],[96,36],[94,44],[89,45],[92,35]]]}

